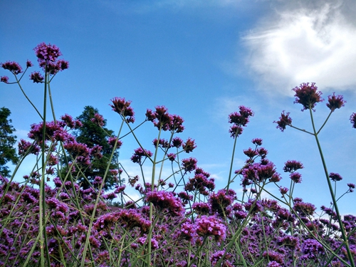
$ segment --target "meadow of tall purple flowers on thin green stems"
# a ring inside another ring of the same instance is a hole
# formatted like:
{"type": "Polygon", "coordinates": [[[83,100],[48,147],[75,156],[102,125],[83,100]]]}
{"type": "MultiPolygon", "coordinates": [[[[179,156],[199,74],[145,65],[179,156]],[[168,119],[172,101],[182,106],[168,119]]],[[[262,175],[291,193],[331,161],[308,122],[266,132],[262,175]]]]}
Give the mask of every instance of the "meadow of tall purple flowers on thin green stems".
{"type": "MultiPolygon", "coordinates": [[[[49,84],[68,62],[58,59],[61,51],[51,44],[41,43],[35,52],[43,74],[33,72],[30,78],[44,85],[46,106],[49,84]]],[[[32,66],[27,61],[26,70],[32,66]]],[[[14,75],[26,96],[20,83],[26,70],[11,61],[1,67],[14,75]]],[[[11,84],[7,76],[1,82],[11,84]]],[[[312,111],[322,101],[320,91],[314,83],[293,90],[295,103],[310,111],[313,122],[312,111]]],[[[344,103],[341,95],[330,95],[330,115],[344,103]]],[[[138,146],[132,162],[142,173],[144,165],[152,166],[149,181],[140,183],[136,174],[127,177],[127,186],[135,188],[140,199],[130,199],[120,182],[127,173],[124,167],[108,166],[105,176],[96,177],[89,188],[76,183],[75,174],[102,157],[100,146],[76,141],[72,131],[82,126],[80,121],[70,115],[46,121],[46,112],[41,114],[33,105],[43,121],[31,125],[32,142],[19,142],[19,165],[33,154],[36,166],[23,182],[15,182],[16,169],[11,179],[0,177],[0,266],[355,266],[356,216],[340,216],[337,209],[334,187],[342,180],[339,174],[325,173],[333,204],[322,206],[322,216],[315,216],[313,204],[293,196],[303,164],[288,160],[283,172],[290,176],[290,187],[280,187],[281,174],[268,160],[263,140],[252,140],[244,150],[244,166],[234,171],[236,140],[253,116],[251,109],[240,106],[229,115],[234,139],[231,169],[226,187],[216,190],[214,178],[197,167],[197,159],[181,158],[196,147],[191,138],[177,137],[184,131],[182,117],[169,114],[164,106],[147,110],[145,122],[157,127],[151,152],[135,135],[130,101],[112,98],[110,105],[122,120],[117,135],[108,136],[112,151],[122,146],[125,126],[138,146]],[[163,164],[172,166],[168,177],[162,176],[163,164]],[[117,177],[113,192],[103,189],[109,172],[117,177]],[[239,197],[230,186],[238,179],[243,192],[239,197]],[[262,198],[267,184],[276,184],[282,197],[262,198]],[[113,206],[113,199],[122,203],[113,206]]],[[[356,113],[350,120],[356,127],[356,113]]],[[[93,122],[103,125],[103,117],[95,115],[93,122]]],[[[276,124],[282,131],[287,126],[300,130],[288,112],[276,124]]],[[[313,125],[314,132],[308,132],[315,136],[322,159],[318,133],[323,126],[316,130],[313,125]]],[[[345,194],[355,189],[354,184],[347,186],[345,194]]]]}

